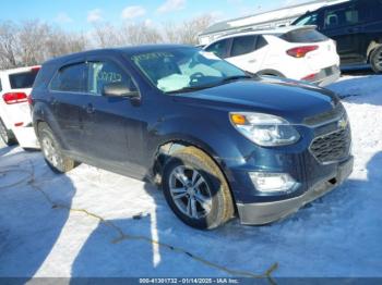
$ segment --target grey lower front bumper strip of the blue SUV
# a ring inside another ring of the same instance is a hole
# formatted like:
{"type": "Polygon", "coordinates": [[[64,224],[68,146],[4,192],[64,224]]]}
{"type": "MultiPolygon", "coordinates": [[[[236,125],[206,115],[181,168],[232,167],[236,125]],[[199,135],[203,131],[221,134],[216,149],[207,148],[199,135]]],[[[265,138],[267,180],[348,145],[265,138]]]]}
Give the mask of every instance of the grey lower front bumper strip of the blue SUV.
{"type": "Polygon", "coordinates": [[[338,165],[336,172],[314,184],[301,196],[272,202],[237,203],[242,224],[262,225],[285,218],[305,205],[341,185],[353,172],[354,158],[338,165]]]}

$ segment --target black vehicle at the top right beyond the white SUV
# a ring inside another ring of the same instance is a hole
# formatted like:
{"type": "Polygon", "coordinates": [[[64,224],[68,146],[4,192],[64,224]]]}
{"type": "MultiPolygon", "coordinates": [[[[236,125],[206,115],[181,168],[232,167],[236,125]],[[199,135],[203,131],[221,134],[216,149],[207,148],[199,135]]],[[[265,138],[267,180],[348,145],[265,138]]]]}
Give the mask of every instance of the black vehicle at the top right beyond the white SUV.
{"type": "Polygon", "coordinates": [[[294,25],[317,25],[337,42],[341,65],[370,63],[382,72],[382,0],[354,0],[323,7],[297,18],[294,25]]]}

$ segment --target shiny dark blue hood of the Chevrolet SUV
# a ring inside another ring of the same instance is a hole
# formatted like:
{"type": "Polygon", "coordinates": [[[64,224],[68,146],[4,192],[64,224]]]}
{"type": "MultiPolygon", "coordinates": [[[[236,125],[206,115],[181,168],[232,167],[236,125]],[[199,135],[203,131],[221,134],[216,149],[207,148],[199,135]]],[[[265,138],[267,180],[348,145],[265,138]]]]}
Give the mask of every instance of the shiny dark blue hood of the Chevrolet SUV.
{"type": "Polygon", "coordinates": [[[200,108],[275,114],[290,123],[331,111],[339,101],[332,91],[314,85],[271,77],[237,80],[175,98],[200,108]]]}

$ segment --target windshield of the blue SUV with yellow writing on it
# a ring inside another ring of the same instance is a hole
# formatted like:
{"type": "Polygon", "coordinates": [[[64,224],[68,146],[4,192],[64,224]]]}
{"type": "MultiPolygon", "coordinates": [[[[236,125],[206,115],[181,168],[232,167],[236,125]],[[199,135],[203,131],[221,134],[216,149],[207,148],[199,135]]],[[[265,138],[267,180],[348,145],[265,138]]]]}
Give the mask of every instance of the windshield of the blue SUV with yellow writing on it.
{"type": "Polygon", "coordinates": [[[213,53],[194,48],[140,53],[131,60],[164,92],[208,88],[229,78],[248,77],[213,53]]]}

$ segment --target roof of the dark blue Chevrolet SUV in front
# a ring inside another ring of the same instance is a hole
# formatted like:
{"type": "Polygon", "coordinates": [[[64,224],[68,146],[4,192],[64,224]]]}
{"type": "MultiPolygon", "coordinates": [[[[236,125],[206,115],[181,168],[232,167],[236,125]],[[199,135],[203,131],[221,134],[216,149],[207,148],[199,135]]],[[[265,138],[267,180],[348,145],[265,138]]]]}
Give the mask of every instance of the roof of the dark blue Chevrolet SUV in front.
{"type": "Polygon", "coordinates": [[[74,60],[80,57],[89,57],[89,55],[106,55],[106,54],[120,54],[124,53],[128,57],[153,51],[168,51],[176,48],[195,48],[187,45],[141,45],[141,46],[131,46],[131,47],[119,47],[119,48],[106,48],[106,49],[95,49],[87,50],[76,53],[71,53],[62,57],[58,57],[51,60],[46,61],[44,64],[53,64],[53,63],[63,63],[67,61],[74,60]]]}

